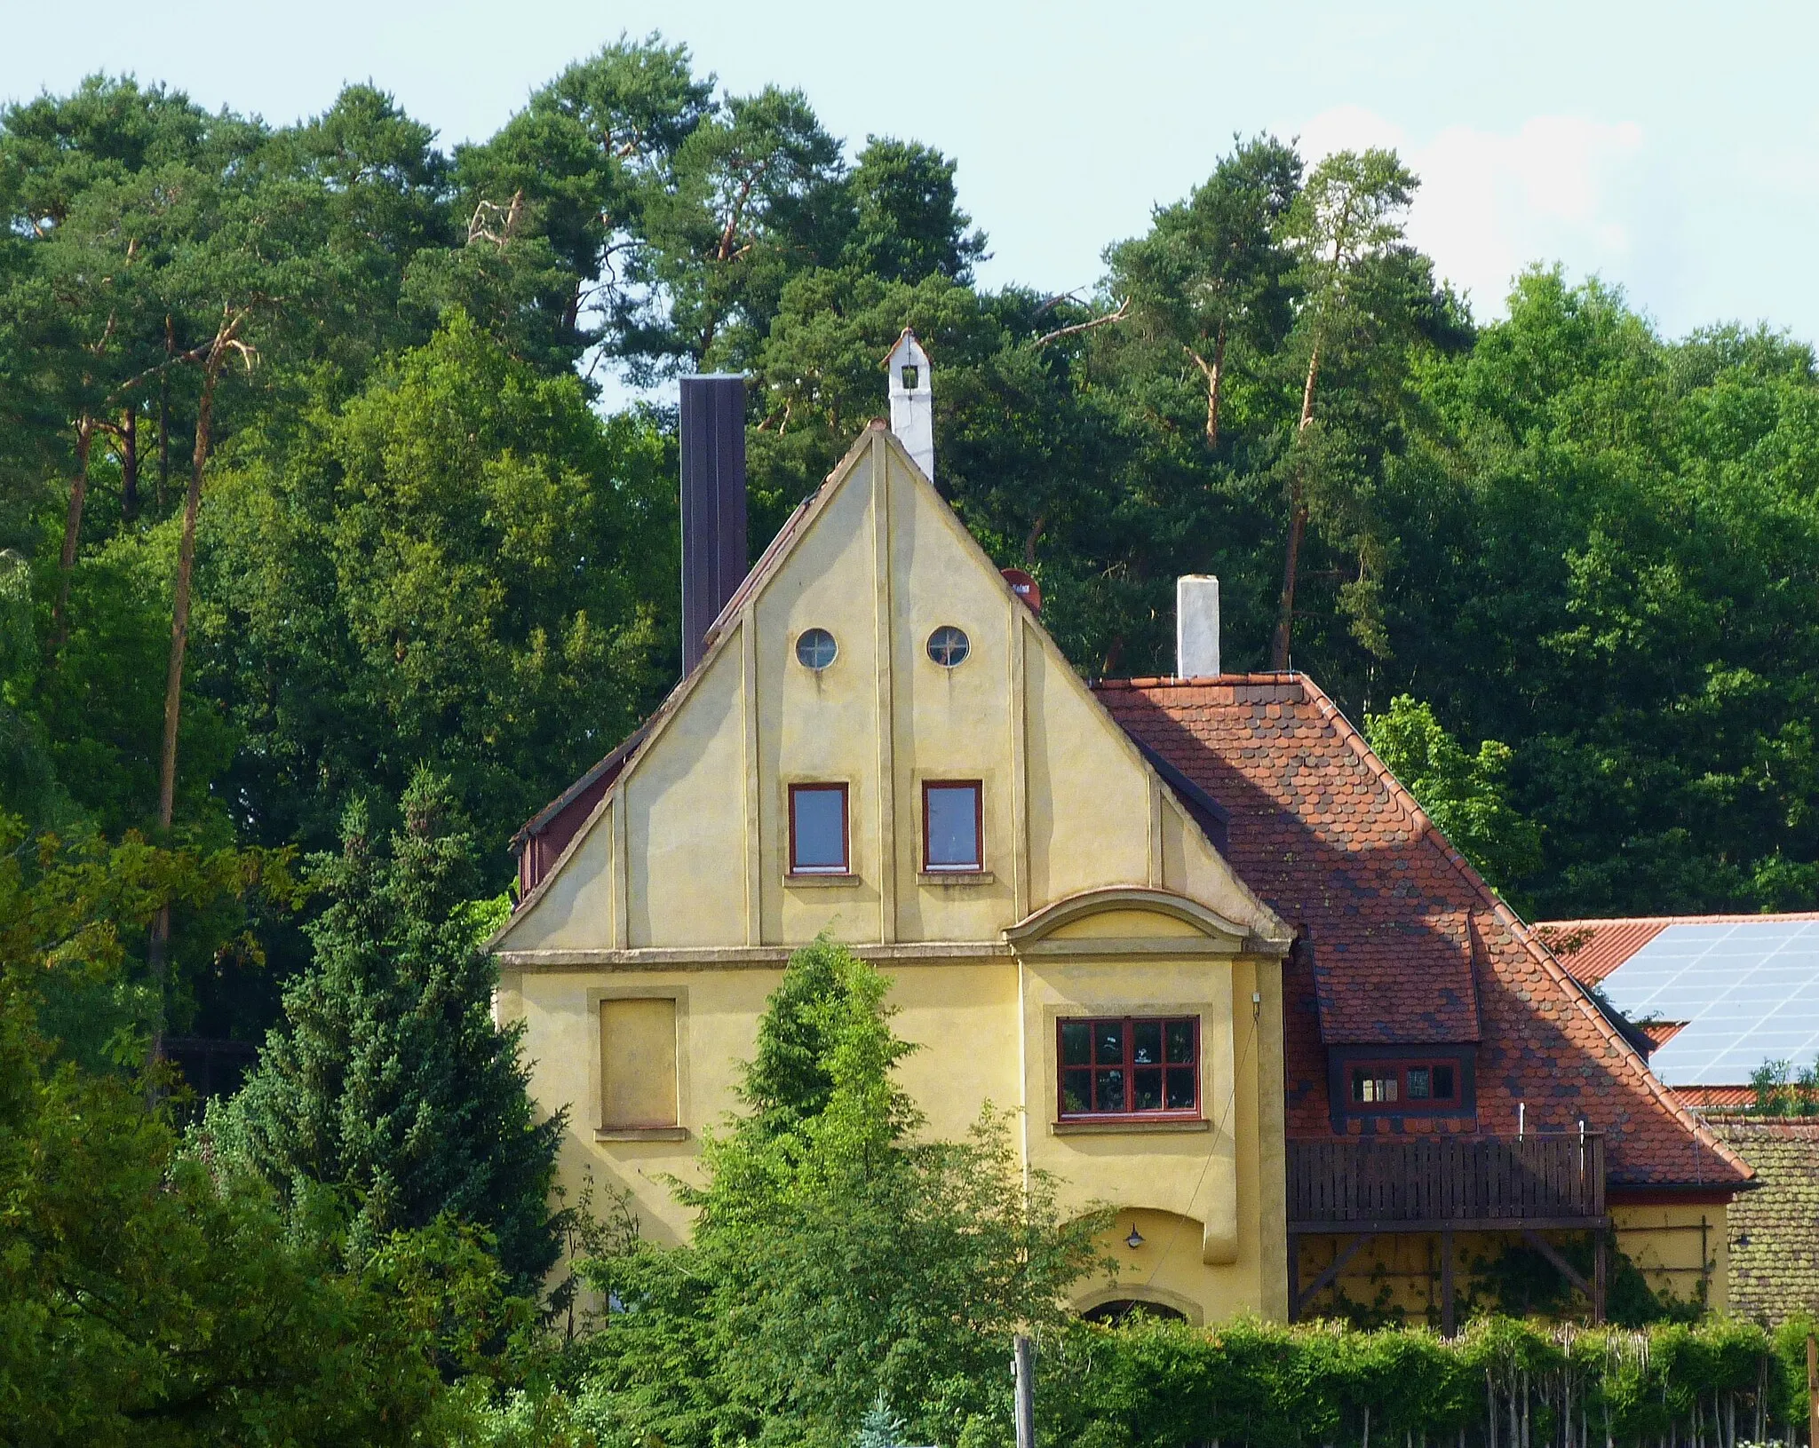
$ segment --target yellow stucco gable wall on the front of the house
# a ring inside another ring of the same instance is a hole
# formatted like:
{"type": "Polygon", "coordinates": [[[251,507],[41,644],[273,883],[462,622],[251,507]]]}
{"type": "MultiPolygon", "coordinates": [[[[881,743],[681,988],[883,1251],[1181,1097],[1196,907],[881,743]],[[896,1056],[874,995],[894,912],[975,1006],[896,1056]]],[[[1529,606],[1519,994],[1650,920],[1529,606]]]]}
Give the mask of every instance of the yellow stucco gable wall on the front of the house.
{"type": "MultiPolygon", "coordinates": [[[[920,1046],[902,1084],[931,1133],[1011,1110],[1064,1202],[1148,1222],[1139,1252],[1121,1233],[1119,1295],[1202,1321],[1286,1315],[1288,931],[880,431],[495,940],[533,1093],[571,1111],[571,1193],[591,1173],[633,1193],[649,1237],[688,1232],[664,1177],[691,1179],[702,1128],[739,1108],[764,999],[824,930],[893,977],[895,1026],[920,1046]],[[971,642],[953,669],[924,648],[942,624],[971,642]],[[835,635],[822,671],[795,660],[806,628],[835,635]],[[982,782],[980,875],[922,873],[928,779],[982,782]],[[853,873],[789,879],[788,788],[833,780],[853,873]],[[600,1119],[600,1002],[651,995],[677,1002],[677,1124],[618,1130],[600,1119]],[[1199,1015],[1204,1121],[1059,1126],[1055,1021],[1088,1011],[1199,1015]]],[[[1080,1302],[1111,1286],[1082,1284],[1080,1302]]]]}

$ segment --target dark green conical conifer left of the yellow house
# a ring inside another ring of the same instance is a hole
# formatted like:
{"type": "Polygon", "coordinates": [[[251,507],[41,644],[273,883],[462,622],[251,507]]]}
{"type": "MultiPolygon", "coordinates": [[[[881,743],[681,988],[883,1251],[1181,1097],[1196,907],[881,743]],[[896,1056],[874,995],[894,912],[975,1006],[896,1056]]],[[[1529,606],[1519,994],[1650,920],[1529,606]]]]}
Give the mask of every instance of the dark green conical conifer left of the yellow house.
{"type": "Polygon", "coordinates": [[[333,902],[309,931],[315,960],[211,1128],[291,1201],[347,1192],[355,1250],[453,1213],[537,1292],[558,1255],[548,1199],[566,1113],[537,1121],[522,1028],[493,1022],[497,968],[449,782],[418,769],[402,815],[380,848],[355,804],[342,853],[317,857],[333,902]]]}

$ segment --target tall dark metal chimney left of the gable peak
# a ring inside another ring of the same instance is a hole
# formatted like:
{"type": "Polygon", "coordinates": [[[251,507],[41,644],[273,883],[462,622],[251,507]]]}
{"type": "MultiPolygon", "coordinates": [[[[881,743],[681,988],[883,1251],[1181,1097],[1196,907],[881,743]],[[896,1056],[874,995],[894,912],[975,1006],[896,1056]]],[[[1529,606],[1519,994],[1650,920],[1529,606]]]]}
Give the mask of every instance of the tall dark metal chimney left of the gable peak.
{"type": "Polygon", "coordinates": [[[746,378],[682,378],[682,673],[746,578],[746,378]]]}

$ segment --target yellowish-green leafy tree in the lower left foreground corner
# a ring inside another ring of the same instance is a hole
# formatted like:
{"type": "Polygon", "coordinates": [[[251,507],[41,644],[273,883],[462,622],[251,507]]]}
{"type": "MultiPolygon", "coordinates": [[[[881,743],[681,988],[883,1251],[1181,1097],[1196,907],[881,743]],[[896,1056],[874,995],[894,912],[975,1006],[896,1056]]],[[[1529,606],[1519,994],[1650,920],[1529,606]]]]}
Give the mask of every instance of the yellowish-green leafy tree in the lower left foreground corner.
{"type": "Polygon", "coordinates": [[[287,891],[282,857],[31,840],[0,817],[11,1443],[415,1443],[444,1412],[444,1373],[491,1368],[471,1339],[524,1321],[471,1233],[438,1224],[349,1264],[331,1215],[286,1230],[256,1182],[186,1155],[146,1082],[109,1061],[142,1059],[131,1019],[93,1042],[107,1050],[56,1037],[71,1002],[131,988],[129,942],[160,906],[247,891],[287,891]]]}

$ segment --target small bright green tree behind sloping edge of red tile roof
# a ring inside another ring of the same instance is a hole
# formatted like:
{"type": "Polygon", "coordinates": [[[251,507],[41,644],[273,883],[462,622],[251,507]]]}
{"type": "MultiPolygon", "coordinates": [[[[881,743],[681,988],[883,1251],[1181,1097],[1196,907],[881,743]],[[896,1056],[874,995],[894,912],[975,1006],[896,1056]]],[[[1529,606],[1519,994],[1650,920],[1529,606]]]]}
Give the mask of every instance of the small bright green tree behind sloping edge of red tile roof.
{"type": "Polygon", "coordinates": [[[1506,890],[1541,866],[1541,830],[1510,804],[1510,746],[1486,739],[1468,755],[1406,693],[1386,713],[1364,717],[1364,737],[1428,811],[1452,846],[1493,888],[1506,890]]]}

